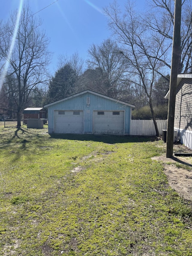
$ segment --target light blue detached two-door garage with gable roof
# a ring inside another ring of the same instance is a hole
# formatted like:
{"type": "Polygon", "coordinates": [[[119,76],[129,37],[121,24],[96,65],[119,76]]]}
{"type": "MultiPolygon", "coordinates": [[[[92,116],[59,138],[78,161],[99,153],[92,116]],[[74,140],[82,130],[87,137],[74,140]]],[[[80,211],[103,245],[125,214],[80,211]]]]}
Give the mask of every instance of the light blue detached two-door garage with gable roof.
{"type": "Polygon", "coordinates": [[[44,106],[48,108],[48,132],[118,134],[130,132],[135,106],[86,90],[44,106]]]}

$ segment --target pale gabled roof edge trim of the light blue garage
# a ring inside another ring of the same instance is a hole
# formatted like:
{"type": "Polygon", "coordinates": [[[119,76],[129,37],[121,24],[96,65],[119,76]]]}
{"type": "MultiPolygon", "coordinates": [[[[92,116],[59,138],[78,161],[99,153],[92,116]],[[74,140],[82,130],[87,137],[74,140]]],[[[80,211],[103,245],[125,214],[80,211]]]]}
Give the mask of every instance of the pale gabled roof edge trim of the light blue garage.
{"type": "Polygon", "coordinates": [[[69,99],[71,99],[71,98],[77,97],[77,96],[82,95],[82,94],[85,94],[85,93],[87,93],[87,92],[89,92],[89,93],[91,93],[91,94],[94,94],[94,95],[97,95],[97,96],[100,96],[100,97],[103,97],[103,98],[106,98],[106,99],[109,99],[109,100],[111,100],[111,101],[116,101],[116,102],[122,103],[122,104],[127,105],[127,106],[130,106],[130,107],[135,107],[135,105],[129,104],[129,103],[124,102],[124,101],[119,101],[119,100],[117,100],[117,99],[114,99],[114,98],[111,98],[111,97],[105,96],[105,95],[103,95],[103,94],[100,94],[100,93],[98,93],[98,92],[93,92],[93,91],[90,91],[90,90],[85,90],[85,91],[83,91],[83,92],[79,92],[79,93],[76,93],[76,94],[74,94],[74,95],[71,95],[71,96],[69,96],[69,97],[67,97],[67,98],[64,98],[64,99],[61,99],[61,100],[58,100],[58,101],[55,101],[55,102],[46,104],[46,105],[44,105],[44,107],[49,107],[49,106],[52,106],[52,105],[57,104],[57,103],[59,103],[59,102],[67,101],[67,100],[69,100],[69,99]]]}

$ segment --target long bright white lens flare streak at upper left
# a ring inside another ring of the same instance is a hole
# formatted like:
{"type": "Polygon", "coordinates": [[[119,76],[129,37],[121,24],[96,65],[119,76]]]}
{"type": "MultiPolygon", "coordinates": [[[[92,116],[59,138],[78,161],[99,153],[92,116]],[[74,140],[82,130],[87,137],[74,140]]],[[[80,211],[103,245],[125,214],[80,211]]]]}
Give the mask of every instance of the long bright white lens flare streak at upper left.
{"type": "Polygon", "coordinates": [[[23,1],[24,0],[20,0],[20,3],[19,3],[19,9],[18,9],[17,19],[16,19],[16,23],[15,23],[15,27],[14,27],[13,37],[12,37],[11,44],[10,44],[10,47],[9,47],[9,50],[8,50],[8,54],[6,56],[6,61],[2,65],[3,71],[0,75],[0,90],[1,90],[2,85],[4,83],[4,79],[5,79],[6,74],[7,74],[7,68],[9,67],[11,54],[12,54],[13,49],[14,49],[15,39],[16,39],[18,28],[19,28],[19,20],[20,20],[21,12],[22,12],[23,1]]]}

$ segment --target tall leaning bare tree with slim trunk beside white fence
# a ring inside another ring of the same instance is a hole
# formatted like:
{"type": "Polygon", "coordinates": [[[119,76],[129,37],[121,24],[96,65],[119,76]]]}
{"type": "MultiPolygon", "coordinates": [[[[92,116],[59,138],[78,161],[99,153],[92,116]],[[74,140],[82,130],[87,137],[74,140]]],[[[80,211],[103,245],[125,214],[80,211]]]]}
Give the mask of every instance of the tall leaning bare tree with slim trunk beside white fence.
{"type": "Polygon", "coordinates": [[[152,91],[163,67],[159,59],[164,58],[164,52],[162,52],[164,38],[150,34],[146,26],[142,25],[140,16],[134,11],[134,5],[130,2],[125,6],[124,15],[121,15],[116,1],[110,5],[110,9],[106,8],[105,12],[109,17],[109,27],[122,46],[120,53],[127,62],[127,71],[132,74],[130,82],[145,90],[156,135],[159,136],[152,104],[152,91]]]}

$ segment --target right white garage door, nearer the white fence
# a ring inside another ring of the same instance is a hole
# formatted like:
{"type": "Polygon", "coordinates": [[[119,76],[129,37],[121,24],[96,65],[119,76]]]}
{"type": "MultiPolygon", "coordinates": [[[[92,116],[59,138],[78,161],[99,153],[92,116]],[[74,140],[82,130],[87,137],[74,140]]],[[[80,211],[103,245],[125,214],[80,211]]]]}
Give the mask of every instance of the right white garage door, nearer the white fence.
{"type": "Polygon", "coordinates": [[[94,134],[124,134],[124,111],[93,111],[94,134]]]}

